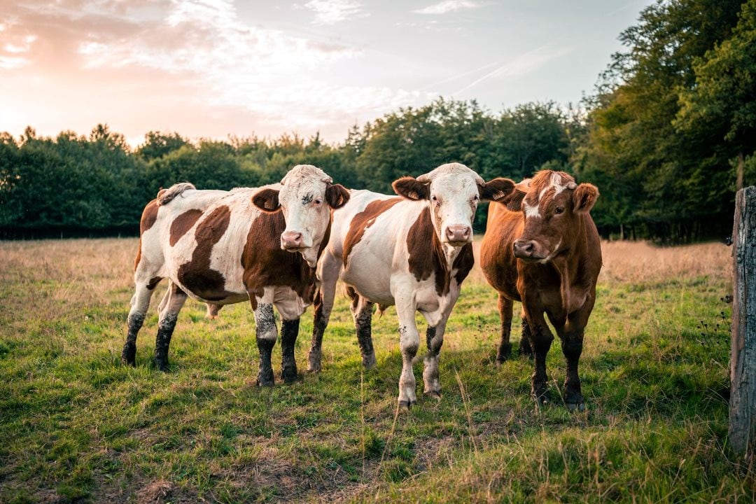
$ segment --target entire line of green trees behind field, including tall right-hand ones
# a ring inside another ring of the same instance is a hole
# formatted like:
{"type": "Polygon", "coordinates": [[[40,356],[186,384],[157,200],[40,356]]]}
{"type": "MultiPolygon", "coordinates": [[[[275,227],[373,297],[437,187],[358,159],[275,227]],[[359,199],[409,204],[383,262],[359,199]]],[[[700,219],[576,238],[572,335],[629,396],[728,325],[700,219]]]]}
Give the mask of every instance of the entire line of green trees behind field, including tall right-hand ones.
{"type": "MultiPolygon", "coordinates": [[[[2,133],[0,237],[137,234],[144,204],[178,181],[256,187],[308,163],[346,187],[391,193],[396,178],[451,161],[485,179],[547,168],[590,181],[604,236],[727,236],[736,189],[756,183],[756,0],[660,1],[620,39],[626,49],[578,107],[492,113],[438,98],[355,125],[338,144],[150,131],[132,150],[107,125],[88,136],[2,133]]],[[[476,232],[484,229],[481,209],[476,232]]]]}

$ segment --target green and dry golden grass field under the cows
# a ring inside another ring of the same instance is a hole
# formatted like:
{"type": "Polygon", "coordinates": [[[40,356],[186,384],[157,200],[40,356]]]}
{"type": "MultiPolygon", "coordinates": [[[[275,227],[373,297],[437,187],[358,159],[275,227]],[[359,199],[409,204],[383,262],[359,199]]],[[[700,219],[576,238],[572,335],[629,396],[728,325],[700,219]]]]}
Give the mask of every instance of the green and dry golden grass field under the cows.
{"type": "MultiPolygon", "coordinates": [[[[473,270],[441,354],[442,400],[398,416],[395,311],[375,317],[378,365],[363,373],[343,297],[322,372],[294,385],[254,385],[247,304],[207,320],[188,301],[171,372],[153,369],[162,286],[137,366],[122,366],[136,248],[0,243],[0,502],[754,501],[754,468],[727,444],[726,246],[604,244],[580,413],[537,407],[527,360],[494,366],[496,296],[473,270]]],[[[547,366],[559,397],[558,343],[547,366]]]]}

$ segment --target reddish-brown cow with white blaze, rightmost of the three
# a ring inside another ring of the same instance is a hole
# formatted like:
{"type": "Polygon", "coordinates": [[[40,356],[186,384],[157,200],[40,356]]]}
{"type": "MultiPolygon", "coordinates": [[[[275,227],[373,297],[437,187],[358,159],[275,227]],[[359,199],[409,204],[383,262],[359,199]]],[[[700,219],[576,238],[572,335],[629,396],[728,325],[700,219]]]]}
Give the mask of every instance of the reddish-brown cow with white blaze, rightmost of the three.
{"type": "Polygon", "coordinates": [[[534,354],[532,392],[545,400],[546,354],[554,339],[546,314],[567,360],[564,400],[570,410],[584,409],[578,361],[601,270],[599,233],[588,213],[598,196],[595,186],[575,184],[565,172],[538,172],[500,200],[504,204],[489,207],[481,245],[483,273],[499,292],[497,363],[510,356],[513,301],[522,301],[520,351],[534,354]]]}

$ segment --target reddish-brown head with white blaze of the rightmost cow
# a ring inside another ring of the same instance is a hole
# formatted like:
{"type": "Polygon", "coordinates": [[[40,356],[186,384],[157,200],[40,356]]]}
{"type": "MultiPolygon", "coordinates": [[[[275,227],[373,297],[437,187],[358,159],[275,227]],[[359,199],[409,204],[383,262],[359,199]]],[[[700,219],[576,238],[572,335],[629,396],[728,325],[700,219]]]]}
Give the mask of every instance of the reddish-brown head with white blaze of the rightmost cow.
{"type": "Polygon", "coordinates": [[[544,170],[517,184],[503,201],[525,217],[522,235],[512,245],[515,257],[546,263],[572,249],[583,236],[583,216],[598,197],[596,186],[575,184],[565,172],[544,170]]]}

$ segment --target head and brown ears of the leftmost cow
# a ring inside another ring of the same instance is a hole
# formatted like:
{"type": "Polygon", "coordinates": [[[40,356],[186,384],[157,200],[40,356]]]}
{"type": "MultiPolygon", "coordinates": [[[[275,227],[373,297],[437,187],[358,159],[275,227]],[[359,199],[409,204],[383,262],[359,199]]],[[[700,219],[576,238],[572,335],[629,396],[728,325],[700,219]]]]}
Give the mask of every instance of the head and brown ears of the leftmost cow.
{"type": "Polygon", "coordinates": [[[315,267],[318,252],[330,225],[330,209],[349,201],[349,191],[313,165],[296,165],[281,180],[280,188],[259,190],[253,203],[263,212],[283,212],[286,229],[281,249],[299,252],[315,267]]]}

